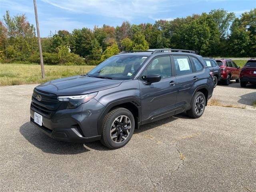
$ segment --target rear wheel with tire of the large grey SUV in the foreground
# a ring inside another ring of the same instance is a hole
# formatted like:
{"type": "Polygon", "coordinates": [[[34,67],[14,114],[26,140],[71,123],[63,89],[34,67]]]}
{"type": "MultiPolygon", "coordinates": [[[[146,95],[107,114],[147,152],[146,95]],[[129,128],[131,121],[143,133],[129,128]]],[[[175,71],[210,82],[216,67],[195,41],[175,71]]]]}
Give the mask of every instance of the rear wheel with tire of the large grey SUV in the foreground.
{"type": "Polygon", "coordinates": [[[194,119],[199,118],[204,113],[205,105],[206,99],[204,94],[202,92],[196,92],[196,94],[194,94],[194,96],[192,97],[191,109],[187,111],[188,116],[194,119]],[[200,102],[200,98],[203,99],[203,101],[201,100],[200,102]]]}

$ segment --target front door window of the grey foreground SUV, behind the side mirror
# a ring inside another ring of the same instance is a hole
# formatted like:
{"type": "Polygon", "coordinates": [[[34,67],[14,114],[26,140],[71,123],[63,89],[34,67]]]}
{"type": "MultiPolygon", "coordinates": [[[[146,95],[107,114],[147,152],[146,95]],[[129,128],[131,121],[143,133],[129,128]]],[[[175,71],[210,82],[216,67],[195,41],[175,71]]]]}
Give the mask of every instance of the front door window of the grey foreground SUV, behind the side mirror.
{"type": "Polygon", "coordinates": [[[152,60],[146,70],[142,73],[140,79],[146,81],[149,74],[159,74],[162,79],[171,77],[172,67],[170,56],[157,57],[152,60]]]}

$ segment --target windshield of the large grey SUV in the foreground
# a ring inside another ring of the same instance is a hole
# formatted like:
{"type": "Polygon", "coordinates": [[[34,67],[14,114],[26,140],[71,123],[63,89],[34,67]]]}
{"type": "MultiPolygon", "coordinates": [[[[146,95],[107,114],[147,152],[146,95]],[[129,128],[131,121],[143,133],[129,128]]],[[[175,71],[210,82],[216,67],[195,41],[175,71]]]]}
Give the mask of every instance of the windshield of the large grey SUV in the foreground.
{"type": "Polygon", "coordinates": [[[116,80],[131,79],[147,56],[113,56],[96,66],[87,75],[116,80]]]}

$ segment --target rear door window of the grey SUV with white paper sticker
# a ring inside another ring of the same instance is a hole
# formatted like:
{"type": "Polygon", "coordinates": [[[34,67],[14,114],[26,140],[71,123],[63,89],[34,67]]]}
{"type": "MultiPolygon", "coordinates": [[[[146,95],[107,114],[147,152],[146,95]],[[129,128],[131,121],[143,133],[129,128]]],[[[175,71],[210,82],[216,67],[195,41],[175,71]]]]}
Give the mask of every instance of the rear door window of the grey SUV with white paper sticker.
{"type": "Polygon", "coordinates": [[[192,73],[192,65],[188,56],[173,56],[176,75],[192,73]]]}

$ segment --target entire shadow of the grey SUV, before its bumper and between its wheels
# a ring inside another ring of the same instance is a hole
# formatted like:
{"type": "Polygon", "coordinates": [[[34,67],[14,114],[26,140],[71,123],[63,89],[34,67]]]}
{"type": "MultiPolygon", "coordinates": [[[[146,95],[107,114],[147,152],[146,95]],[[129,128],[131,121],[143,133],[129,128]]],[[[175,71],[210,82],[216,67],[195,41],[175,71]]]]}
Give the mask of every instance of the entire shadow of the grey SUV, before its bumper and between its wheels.
{"type": "MultiPolygon", "coordinates": [[[[158,120],[156,122],[144,124],[140,126],[139,129],[135,129],[134,134],[156,128],[179,118],[189,119],[186,113],[181,113],[176,116],[158,120]]],[[[24,136],[24,138],[28,140],[28,142],[30,142],[36,148],[42,150],[45,153],[68,155],[88,152],[91,149],[99,151],[111,150],[103,146],[100,141],[88,142],[84,144],[56,141],[48,137],[44,133],[40,132],[40,130],[34,127],[30,122],[26,122],[20,127],[20,134],[22,134],[22,136],[24,136]]]]}

